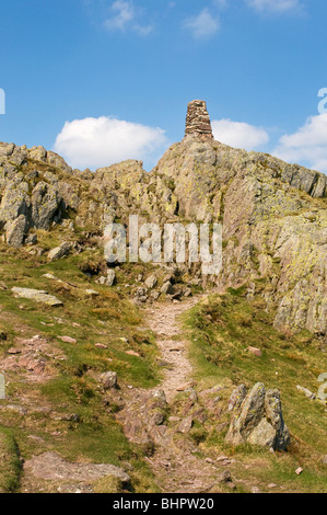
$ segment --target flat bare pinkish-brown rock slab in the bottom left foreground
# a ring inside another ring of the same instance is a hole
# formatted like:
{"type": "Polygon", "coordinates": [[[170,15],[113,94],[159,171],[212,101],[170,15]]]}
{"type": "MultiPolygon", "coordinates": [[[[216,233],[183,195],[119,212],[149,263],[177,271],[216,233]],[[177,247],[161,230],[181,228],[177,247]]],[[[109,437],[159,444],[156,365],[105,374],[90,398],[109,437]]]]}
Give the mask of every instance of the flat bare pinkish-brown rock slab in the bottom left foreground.
{"type": "Polygon", "coordinates": [[[66,461],[56,453],[44,453],[40,456],[35,456],[25,462],[24,469],[35,478],[57,482],[89,483],[107,476],[114,476],[124,483],[128,483],[130,480],[120,467],[109,464],[72,464],[66,461]]]}

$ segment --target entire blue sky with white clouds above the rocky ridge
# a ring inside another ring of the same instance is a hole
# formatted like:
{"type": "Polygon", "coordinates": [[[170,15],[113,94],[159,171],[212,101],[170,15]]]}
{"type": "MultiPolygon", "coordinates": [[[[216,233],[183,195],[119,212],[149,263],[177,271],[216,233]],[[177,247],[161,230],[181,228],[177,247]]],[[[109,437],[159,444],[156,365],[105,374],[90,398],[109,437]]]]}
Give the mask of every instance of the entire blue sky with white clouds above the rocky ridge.
{"type": "Polygon", "coordinates": [[[150,170],[203,99],[223,142],[327,172],[326,19],[324,0],[2,0],[0,140],[150,170]]]}

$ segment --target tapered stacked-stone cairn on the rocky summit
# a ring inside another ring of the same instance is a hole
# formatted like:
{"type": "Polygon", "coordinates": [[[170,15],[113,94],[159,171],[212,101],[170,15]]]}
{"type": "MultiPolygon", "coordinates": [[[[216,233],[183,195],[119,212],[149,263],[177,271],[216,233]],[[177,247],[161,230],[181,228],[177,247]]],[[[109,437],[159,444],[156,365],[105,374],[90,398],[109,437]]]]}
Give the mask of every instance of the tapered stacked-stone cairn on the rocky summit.
{"type": "Polygon", "coordinates": [[[203,100],[189,102],[186,115],[185,137],[192,136],[201,140],[213,139],[207,104],[203,100]]]}

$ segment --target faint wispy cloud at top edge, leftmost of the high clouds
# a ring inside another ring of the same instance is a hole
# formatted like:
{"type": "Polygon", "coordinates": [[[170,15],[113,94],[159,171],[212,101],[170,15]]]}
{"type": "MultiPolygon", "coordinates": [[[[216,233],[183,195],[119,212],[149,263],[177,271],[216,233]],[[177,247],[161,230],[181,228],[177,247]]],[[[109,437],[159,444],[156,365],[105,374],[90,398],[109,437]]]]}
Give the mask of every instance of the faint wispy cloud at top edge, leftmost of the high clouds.
{"type": "Polygon", "coordinates": [[[104,22],[108,31],[125,32],[131,30],[141,36],[147,36],[152,32],[151,25],[142,25],[138,22],[140,11],[131,0],[116,0],[112,4],[110,11],[112,16],[104,22]]]}

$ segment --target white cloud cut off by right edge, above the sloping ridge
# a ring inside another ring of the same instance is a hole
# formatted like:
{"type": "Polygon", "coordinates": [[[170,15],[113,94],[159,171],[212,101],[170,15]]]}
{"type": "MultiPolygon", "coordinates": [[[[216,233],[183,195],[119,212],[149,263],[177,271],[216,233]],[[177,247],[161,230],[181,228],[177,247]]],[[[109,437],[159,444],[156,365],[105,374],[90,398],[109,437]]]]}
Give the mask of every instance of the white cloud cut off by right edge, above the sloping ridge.
{"type": "Polygon", "coordinates": [[[327,113],[311,116],[296,133],[282,136],[272,153],[327,172],[327,113]]]}

